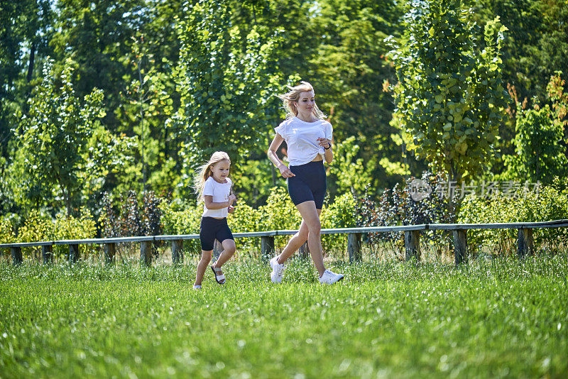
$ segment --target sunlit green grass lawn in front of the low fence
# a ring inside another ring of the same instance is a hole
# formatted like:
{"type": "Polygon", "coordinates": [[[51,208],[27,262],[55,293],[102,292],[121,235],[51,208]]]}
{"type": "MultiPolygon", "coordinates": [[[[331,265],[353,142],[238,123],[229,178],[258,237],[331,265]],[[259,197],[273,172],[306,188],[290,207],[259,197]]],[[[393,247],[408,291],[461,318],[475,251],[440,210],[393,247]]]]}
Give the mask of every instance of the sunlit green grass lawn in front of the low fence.
{"type": "Polygon", "coordinates": [[[0,265],[1,378],[566,378],[568,258],[0,265]]]}

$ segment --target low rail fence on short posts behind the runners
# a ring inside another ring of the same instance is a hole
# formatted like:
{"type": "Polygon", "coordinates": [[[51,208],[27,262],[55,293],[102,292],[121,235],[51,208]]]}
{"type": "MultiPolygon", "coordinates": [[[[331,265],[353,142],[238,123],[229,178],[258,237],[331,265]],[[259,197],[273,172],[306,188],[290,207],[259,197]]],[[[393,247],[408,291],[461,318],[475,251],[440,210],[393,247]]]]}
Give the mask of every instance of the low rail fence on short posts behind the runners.
{"type": "MultiPolygon", "coordinates": [[[[540,222],[517,222],[517,223],[496,223],[496,224],[420,224],[420,225],[400,225],[400,226],[368,226],[361,228],[339,228],[322,229],[322,234],[348,234],[347,250],[349,260],[361,259],[361,234],[364,233],[392,233],[402,231],[405,234],[405,255],[406,260],[420,260],[420,231],[428,230],[448,230],[453,231],[454,254],[456,264],[462,263],[466,259],[467,237],[466,231],[471,229],[518,229],[518,256],[523,258],[532,254],[534,242],[532,229],[543,228],[562,228],[568,226],[568,219],[540,222]]],[[[272,256],[274,249],[275,236],[290,236],[296,234],[297,230],[276,230],[276,231],[253,231],[246,233],[234,233],[234,238],[261,237],[261,255],[263,257],[272,256]]],[[[91,239],[72,239],[59,241],[37,241],[37,242],[18,242],[0,243],[0,248],[10,248],[12,261],[14,264],[22,263],[21,248],[41,246],[44,263],[53,260],[53,245],[68,245],[69,259],[75,262],[79,256],[79,245],[82,244],[104,244],[105,260],[111,263],[114,260],[116,243],[140,243],[141,244],[141,263],[149,265],[151,263],[151,243],[156,241],[171,241],[173,263],[183,261],[182,241],[199,239],[199,234],[179,234],[165,236],[137,236],[137,237],[116,237],[116,238],[91,238],[91,239]]]]}

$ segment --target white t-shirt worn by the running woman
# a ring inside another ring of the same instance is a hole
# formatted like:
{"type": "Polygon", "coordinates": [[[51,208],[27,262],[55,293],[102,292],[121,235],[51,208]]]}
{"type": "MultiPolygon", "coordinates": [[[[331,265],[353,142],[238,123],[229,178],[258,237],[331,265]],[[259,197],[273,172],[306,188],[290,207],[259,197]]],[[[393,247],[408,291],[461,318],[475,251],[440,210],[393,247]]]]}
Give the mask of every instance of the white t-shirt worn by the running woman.
{"type": "Polygon", "coordinates": [[[306,122],[292,117],[282,121],[274,128],[288,145],[288,161],[290,166],[305,165],[318,155],[324,155],[323,146],[318,145],[317,138],[332,139],[333,127],[328,121],[317,120],[306,122]]]}

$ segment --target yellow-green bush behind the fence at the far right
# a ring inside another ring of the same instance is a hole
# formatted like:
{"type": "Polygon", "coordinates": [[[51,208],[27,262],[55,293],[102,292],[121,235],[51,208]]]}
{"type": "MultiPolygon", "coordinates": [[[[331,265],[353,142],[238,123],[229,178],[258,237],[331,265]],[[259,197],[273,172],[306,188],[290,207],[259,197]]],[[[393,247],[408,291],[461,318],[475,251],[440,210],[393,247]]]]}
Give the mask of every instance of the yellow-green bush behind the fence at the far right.
{"type": "MultiPolygon", "coordinates": [[[[489,198],[466,196],[461,204],[458,221],[466,224],[493,224],[498,222],[537,222],[568,219],[568,180],[555,178],[551,185],[538,192],[521,190],[513,197],[496,193],[489,198]]],[[[534,229],[535,248],[556,252],[567,246],[568,229],[534,229]]],[[[494,253],[514,251],[516,229],[476,230],[468,235],[473,251],[483,246],[493,247],[494,253]]]]}

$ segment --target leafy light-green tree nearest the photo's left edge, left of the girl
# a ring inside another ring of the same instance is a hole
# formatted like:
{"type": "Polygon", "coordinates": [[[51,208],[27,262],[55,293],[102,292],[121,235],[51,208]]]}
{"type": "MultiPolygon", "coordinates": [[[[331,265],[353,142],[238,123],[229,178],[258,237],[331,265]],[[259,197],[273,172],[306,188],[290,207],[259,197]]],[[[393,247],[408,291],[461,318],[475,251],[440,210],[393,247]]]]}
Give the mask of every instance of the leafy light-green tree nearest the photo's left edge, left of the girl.
{"type": "Polygon", "coordinates": [[[104,180],[120,163],[120,141],[97,127],[104,116],[103,92],[94,89],[80,101],[71,82],[73,70],[67,60],[56,78],[52,62],[45,65],[29,113],[21,116],[20,130],[14,130],[18,149],[11,167],[22,202],[40,207],[62,199],[67,214],[80,203],[82,189],[92,189],[92,182],[104,180]]]}

